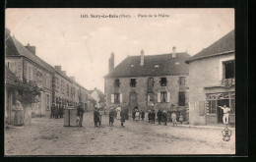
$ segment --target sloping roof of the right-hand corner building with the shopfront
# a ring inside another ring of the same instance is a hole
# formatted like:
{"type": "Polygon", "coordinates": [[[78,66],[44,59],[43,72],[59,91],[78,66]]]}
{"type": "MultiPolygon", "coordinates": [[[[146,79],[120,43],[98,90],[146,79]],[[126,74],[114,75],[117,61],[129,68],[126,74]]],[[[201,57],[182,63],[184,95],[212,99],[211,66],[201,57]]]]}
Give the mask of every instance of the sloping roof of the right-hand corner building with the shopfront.
{"type": "Polygon", "coordinates": [[[189,63],[190,61],[193,61],[193,60],[221,55],[226,52],[233,52],[233,51],[234,51],[234,30],[231,30],[230,32],[225,34],[224,37],[220,38],[209,47],[203,49],[196,55],[190,57],[186,61],[186,63],[189,63]]]}

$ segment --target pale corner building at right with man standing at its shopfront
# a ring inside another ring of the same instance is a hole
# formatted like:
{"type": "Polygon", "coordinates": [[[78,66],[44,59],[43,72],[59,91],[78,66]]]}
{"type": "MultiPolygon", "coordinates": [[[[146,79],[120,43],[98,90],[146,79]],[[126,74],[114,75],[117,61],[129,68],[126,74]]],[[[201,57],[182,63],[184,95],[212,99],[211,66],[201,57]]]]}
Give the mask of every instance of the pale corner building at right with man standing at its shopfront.
{"type": "Polygon", "coordinates": [[[192,125],[223,123],[223,110],[231,108],[234,123],[234,30],[189,58],[189,122],[192,125]]]}

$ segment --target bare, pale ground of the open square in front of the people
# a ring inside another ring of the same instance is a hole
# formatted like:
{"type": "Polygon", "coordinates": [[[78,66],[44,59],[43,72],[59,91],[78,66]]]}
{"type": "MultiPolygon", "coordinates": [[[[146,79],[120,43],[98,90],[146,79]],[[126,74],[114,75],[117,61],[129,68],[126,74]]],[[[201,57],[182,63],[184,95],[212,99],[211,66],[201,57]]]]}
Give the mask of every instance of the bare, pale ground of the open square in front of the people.
{"type": "Polygon", "coordinates": [[[63,119],[33,118],[32,124],[5,130],[6,155],[234,154],[235,133],[223,140],[222,130],[171,127],[128,120],[125,127],[102,116],[95,128],[92,112],[84,127],[63,127],[63,119]]]}

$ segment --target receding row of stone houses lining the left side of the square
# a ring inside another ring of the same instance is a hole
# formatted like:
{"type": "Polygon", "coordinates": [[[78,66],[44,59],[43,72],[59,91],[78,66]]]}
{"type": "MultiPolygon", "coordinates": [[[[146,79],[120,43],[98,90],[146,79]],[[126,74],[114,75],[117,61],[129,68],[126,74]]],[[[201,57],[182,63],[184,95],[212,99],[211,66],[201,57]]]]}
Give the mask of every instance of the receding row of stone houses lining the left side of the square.
{"type": "Polygon", "coordinates": [[[42,88],[40,95],[36,97],[36,102],[32,103],[32,117],[49,115],[52,103],[57,107],[77,106],[78,103],[82,103],[83,107],[86,106],[88,90],[85,87],[75,81],[74,77],[67,77],[60,66],[53,68],[44,62],[35,55],[34,46],[30,44],[24,46],[11,36],[10,32],[6,28],[6,67],[18,80],[42,88]]]}

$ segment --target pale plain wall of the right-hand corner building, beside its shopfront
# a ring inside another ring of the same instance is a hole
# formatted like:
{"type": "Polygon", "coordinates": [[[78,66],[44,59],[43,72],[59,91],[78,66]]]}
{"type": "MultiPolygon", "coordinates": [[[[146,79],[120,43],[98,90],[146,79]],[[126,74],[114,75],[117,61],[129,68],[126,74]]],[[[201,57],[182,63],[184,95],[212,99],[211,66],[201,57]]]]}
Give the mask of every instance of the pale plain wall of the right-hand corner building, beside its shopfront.
{"type": "MultiPolygon", "coordinates": [[[[206,101],[205,86],[221,85],[223,80],[222,60],[234,54],[209,57],[189,63],[189,122],[192,125],[205,125],[206,116],[199,114],[200,102],[206,101]]],[[[213,91],[218,91],[212,89],[213,91]]],[[[230,89],[229,89],[230,90],[230,89]]],[[[229,91],[228,90],[228,91],[229,91]]],[[[209,121],[212,119],[209,118],[209,121]]]]}

